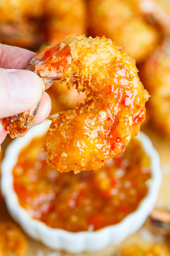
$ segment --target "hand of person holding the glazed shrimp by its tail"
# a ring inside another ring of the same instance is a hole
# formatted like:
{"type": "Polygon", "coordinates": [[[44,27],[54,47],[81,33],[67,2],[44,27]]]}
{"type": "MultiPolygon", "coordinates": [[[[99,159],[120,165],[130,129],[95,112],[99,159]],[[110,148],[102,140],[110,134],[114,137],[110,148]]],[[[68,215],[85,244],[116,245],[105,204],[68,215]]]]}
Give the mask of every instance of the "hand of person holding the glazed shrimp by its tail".
{"type": "MultiPolygon", "coordinates": [[[[34,72],[23,70],[35,54],[26,49],[0,44],[0,118],[22,113],[35,106],[41,99],[40,77],[34,72]]],[[[51,100],[44,92],[33,125],[44,121],[50,111],[51,100]]],[[[0,123],[0,144],[6,135],[7,132],[0,123]]]]}

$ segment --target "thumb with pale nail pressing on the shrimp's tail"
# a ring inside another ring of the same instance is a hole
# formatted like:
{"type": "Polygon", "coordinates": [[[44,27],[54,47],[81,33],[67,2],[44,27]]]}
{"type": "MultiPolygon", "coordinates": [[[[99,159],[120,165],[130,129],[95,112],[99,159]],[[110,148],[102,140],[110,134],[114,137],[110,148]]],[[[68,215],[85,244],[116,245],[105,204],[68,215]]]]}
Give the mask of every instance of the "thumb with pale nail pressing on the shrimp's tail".
{"type": "Polygon", "coordinates": [[[42,81],[34,72],[0,68],[0,118],[22,113],[42,97],[42,81]]]}

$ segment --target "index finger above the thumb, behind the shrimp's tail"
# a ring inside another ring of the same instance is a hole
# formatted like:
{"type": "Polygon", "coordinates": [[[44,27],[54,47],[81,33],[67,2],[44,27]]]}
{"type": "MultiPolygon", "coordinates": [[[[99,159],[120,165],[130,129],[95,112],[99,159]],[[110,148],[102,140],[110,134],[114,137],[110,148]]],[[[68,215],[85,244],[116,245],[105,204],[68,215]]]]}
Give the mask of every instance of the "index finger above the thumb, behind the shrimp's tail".
{"type": "Polygon", "coordinates": [[[24,69],[35,55],[23,48],[0,44],[0,68],[24,69]]]}

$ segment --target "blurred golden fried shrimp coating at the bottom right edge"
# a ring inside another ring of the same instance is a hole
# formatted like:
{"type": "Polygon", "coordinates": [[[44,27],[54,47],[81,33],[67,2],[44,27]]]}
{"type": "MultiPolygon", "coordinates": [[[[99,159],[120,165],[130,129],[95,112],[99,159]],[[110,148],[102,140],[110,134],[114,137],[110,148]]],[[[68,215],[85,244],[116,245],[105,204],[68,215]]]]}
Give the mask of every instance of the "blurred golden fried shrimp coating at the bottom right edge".
{"type": "Polygon", "coordinates": [[[169,249],[163,244],[152,245],[149,249],[137,244],[122,249],[122,256],[170,256],[169,249]]]}

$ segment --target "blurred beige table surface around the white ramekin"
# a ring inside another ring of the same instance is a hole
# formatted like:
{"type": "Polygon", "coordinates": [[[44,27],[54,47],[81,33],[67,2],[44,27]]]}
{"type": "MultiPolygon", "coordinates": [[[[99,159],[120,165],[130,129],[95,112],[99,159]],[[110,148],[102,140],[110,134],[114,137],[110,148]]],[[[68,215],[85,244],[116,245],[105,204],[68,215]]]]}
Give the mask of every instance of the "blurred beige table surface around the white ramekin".
{"type": "MultiPolygon", "coordinates": [[[[160,162],[161,162],[161,170],[162,170],[162,185],[159,191],[159,197],[157,201],[157,206],[165,207],[170,209],[170,139],[165,138],[160,135],[160,132],[157,132],[149,127],[143,127],[142,131],[145,132],[150,139],[152,140],[153,146],[157,149],[160,162]]],[[[4,143],[2,144],[3,150],[5,150],[8,143],[11,141],[9,137],[6,138],[4,143]]],[[[4,201],[0,203],[0,221],[9,220],[10,215],[5,207],[4,201]]],[[[60,252],[60,251],[52,251],[47,247],[43,246],[41,243],[33,241],[31,238],[29,239],[29,256],[71,256],[74,254],[60,252]]],[[[77,254],[78,256],[84,255],[93,255],[93,256],[111,256],[117,255],[119,249],[123,246],[129,245],[131,243],[145,243],[145,244],[156,244],[158,242],[163,242],[170,248],[170,238],[164,237],[161,235],[152,234],[148,229],[147,225],[144,226],[132,236],[129,236],[124,242],[118,245],[110,245],[107,248],[103,249],[100,252],[85,252],[81,254],[77,254]]]]}

